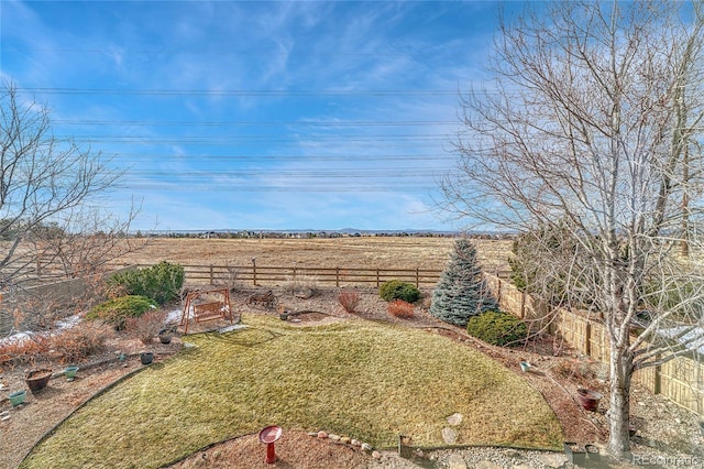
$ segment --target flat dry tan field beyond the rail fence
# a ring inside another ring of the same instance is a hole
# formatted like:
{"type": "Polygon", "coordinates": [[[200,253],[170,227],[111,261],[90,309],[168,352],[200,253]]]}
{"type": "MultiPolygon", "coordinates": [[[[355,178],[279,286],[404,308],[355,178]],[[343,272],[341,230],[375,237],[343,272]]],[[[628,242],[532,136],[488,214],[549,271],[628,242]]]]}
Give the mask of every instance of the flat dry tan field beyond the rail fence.
{"type": "MultiPolygon", "coordinates": [[[[424,237],[346,237],[314,239],[154,238],[123,264],[160,261],[186,265],[251,265],[300,268],[444,269],[454,239],[424,237]]],[[[475,240],[480,262],[487,272],[508,270],[510,241],[475,240]]]]}

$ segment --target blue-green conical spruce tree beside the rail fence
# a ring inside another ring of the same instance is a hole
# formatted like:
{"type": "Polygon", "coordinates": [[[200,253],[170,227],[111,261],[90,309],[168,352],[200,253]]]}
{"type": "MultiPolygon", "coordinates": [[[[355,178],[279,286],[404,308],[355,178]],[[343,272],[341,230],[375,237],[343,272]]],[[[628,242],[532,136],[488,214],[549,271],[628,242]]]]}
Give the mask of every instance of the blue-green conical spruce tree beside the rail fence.
{"type": "Polygon", "coordinates": [[[465,327],[470,317],[498,309],[476,260],[476,248],[465,238],[454,242],[450,263],[432,292],[430,314],[465,327]]]}

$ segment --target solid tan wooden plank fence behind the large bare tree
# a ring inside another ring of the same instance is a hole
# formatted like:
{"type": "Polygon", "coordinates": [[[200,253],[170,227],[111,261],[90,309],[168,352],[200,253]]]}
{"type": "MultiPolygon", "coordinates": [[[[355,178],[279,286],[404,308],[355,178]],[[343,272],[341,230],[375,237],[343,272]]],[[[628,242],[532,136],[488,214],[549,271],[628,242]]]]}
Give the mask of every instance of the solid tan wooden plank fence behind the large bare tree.
{"type": "MultiPolygon", "coordinates": [[[[560,335],[572,348],[608,363],[606,327],[595,314],[551,308],[519,292],[510,282],[487,275],[490,286],[498,296],[502,308],[531,326],[547,327],[552,335],[560,335]]],[[[638,370],[634,381],[662,394],[670,401],[704,416],[704,362],[690,357],[678,357],[662,366],[638,370]]]]}

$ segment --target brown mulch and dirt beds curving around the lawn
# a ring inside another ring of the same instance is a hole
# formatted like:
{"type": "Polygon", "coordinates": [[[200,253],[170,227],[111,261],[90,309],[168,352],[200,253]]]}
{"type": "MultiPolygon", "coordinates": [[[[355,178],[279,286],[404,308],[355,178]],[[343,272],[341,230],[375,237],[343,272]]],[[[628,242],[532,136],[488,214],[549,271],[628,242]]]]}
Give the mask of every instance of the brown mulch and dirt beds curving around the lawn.
{"type": "MultiPolygon", "coordinates": [[[[232,297],[235,315],[268,314],[277,315],[275,310],[267,310],[256,306],[248,306],[246,297],[255,292],[243,288],[232,297]]],[[[569,349],[560,349],[556,353],[551,340],[537,340],[529,346],[519,349],[503,349],[479,342],[469,337],[462,329],[437,321],[427,312],[418,307],[413,319],[398,319],[385,309],[385,303],[378,298],[374,290],[362,291],[362,302],[359,312],[350,315],[342,310],[337,303],[336,290],[321,290],[311,298],[298,298],[283,291],[276,291],[277,303],[292,312],[309,312],[293,315],[288,320],[293,324],[305,326],[307,324],[318,324],[331,320],[354,320],[354,317],[372,320],[385,320],[395,324],[403,324],[407,327],[422,328],[428,334],[439,334],[451,337],[466,347],[473,347],[502,362],[508,369],[519,373],[526,381],[538,390],[546,399],[547,403],[556,412],[565,434],[565,440],[580,443],[594,443],[604,448],[607,435],[605,407],[602,405],[598,412],[584,411],[575,401],[575,390],[578,385],[588,384],[606,394],[605,383],[597,379],[585,383],[581,380],[564,379],[556,374],[554,370],[560,361],[578,360],[579,356],[569,349]],[[527,360],[534,364],[531,372],[522,372],[519,361],[527,360]]],[[[189,332],[196,332],[213,327],[227,326],[228,321],[204,323],[193,326],[189,332]]],[[[151,347],[155,351],[155,360],[177,352],[187,336],[176,337],[170,345],[164,346],[156,340],[151,347]]],[[[19,465],[32,446],[40,440],[42,435],[48,432],[54,425],[70,414],[77,406],[86,402],[95,393],[105,386],[116,382],[122,377],[142,368],[139,352],[144,349],[144,345],[133,339],[118,337],[110,343],[110,350],[101,357],[101,364],[90,366],[90,363],[79,363],[81,370],[78,378],[73,382],[67,382],[65,378],[57,377],[50,382],[50,385],[37,393],[29,395],[24,405],[12,408],[7,399],[0,401],[1,454],[3,458],[0,465],[3,468],[14,468],[19,465]],[[128,353],[124,362],[117,360],[119,351],[128,353]],[[7,418],[6,418],[7,417],[7,418]]],[[[61,370],[56,366],[55,371],[61,370]]],[[[10,389],[22,384],[21,370],[6,372],[0,375],[0,382],[10,389]]],[[[3,396],[4,397],[4,396],[3,396]]],[[[676,405],[645,391],[636,389],[632,396],[634,422],[637,434],[632,439],[634,452],[647,455],[682,455],[697,454],[697,445],[704,443],[698,436],[696,418],[676,405]]],[[[355,467],[416,467],[410,461],[399,458],[394,450],[381,451],[374,456],[354,448],[351,445],[340,445],[330,440],[321,440],[308,435],[308,432],[318,432],[322,428],[307,429],[284,429],[284,437],[277,446],[279,461],[272,466],[264,462],[265,446],[262,445],[256,435],[248,435],[229,441],[220,443],[211,448],[198,451],[188,459],[174,467],[178,468],[256,468],[256,467],[278,467],[278,468],[355,468],[355,467]]],[[[352,436],[353,437],[353,436],[352,436]]],[[[439,451],[438,459],[431,461],[435,467],[447,467],[446,462],[451,454],[469,455],[481,451],[481,449],[455,449],[450,451],[439,451]],[[444,462],[443,462],[444,461],[444,462]]],[[[698,449],[700,458],[701,447],[698,449]]],[[[430,452],[426,454],[426,458],[430,452]]],[[[491,459],[488,455],[485,459],[491,459]]],[[[502,457],[503,458],[503,457],[502,457]]],[[[430,461],[430,459],[428,459],[430,461]]],[[[469,460],[469,459],[468,459],[469,460]]],[[[504,459],[501,459],[504,460],[504,459]]],[[[698,459],[702,460],[702,459],[698,459]]],[[[564,467],[569,467],[565,465],[564,467]]],[[[472,467],[472,466],[469,466],[472,467]]],[[[503,467],[503,466],[498,466],[503,467]]],[[[543,466],[529,466],[543,467],[543,466]]],[[[616,463],[602,467],[627,468],[635,467],[625,463],[616,463]]],[[[657,466],[653,466],[657,467],[657,466]]],[[[667,467],[667,466],[663,466],[667,467]]]]}

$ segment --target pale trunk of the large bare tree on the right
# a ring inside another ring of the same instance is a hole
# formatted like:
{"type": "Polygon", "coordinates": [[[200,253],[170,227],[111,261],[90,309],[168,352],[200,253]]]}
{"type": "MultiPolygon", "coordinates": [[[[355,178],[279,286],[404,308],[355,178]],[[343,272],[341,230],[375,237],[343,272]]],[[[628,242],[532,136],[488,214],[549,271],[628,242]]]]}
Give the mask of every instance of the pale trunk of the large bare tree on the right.
{"type": "Polygon", "coordinates": [[[608,451],[624,458],[630,452],[630,380],[632,360],[624,350],[612,343],[610,350],[610,397],[608,406],[608,451]]]}

